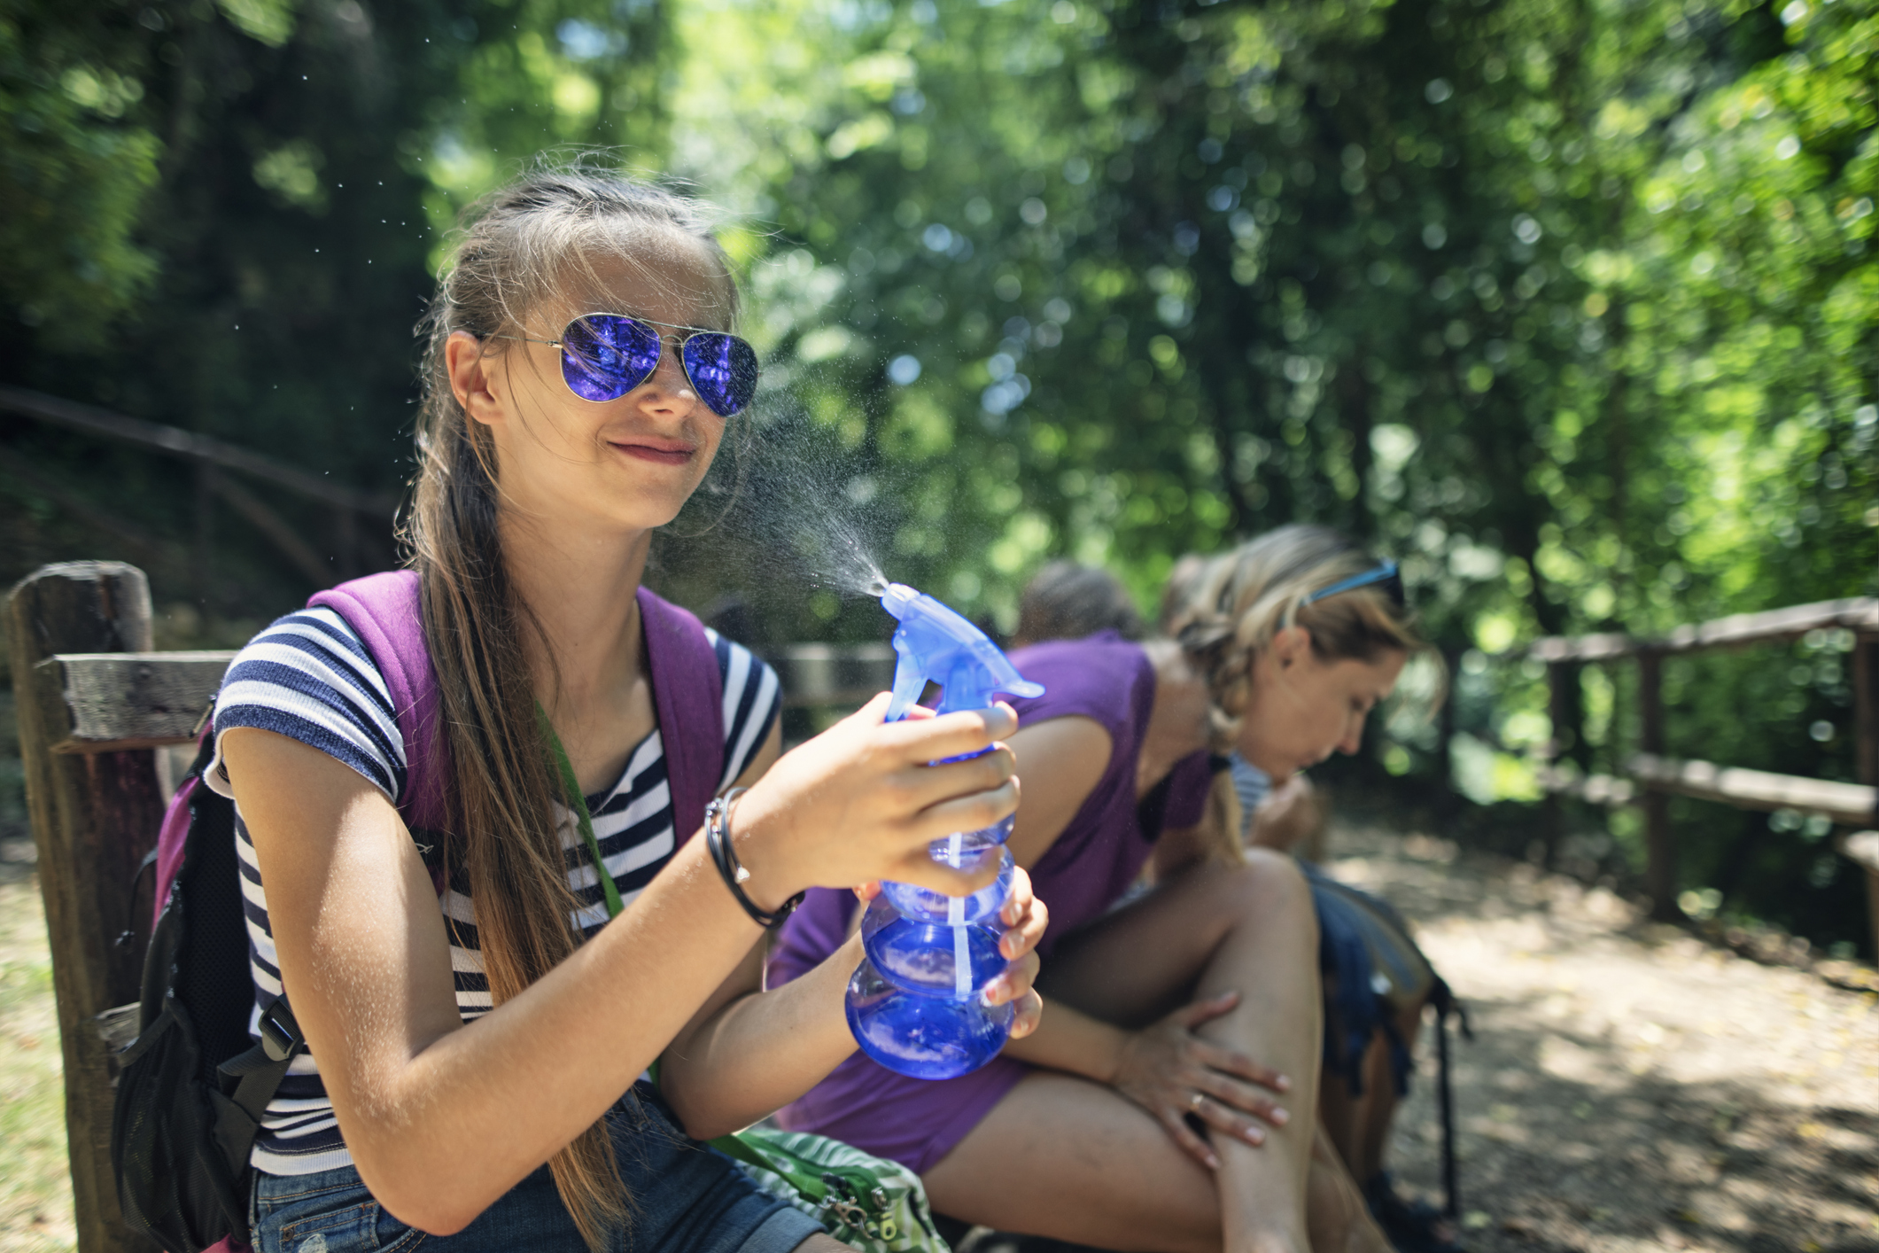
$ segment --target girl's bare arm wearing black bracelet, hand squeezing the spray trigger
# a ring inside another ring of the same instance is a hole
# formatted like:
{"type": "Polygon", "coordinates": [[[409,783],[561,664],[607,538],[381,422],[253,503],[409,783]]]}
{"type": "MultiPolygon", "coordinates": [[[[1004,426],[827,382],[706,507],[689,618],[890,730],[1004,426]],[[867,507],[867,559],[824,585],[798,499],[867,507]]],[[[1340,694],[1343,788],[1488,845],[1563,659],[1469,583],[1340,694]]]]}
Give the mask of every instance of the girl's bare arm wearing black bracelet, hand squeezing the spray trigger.
{"type": "MultiPolygon", "coordinates": [[[[885,695],[738,804],[759,905],[817,883],[958,892],[990,877],[938,866],[926,842],[1011,812],[1011,755],[924,763],[990,744],[1009,710],[893,725],[883,712],[885,695]]],[[[425,1230],[460,1230],[592,1125],[761,934],[691,838],[626,913],[464,1029],[436,889],[383,793],[271,731],[222,744],[282,982],[348,1150],[385,1208],[425,1230]]]]}

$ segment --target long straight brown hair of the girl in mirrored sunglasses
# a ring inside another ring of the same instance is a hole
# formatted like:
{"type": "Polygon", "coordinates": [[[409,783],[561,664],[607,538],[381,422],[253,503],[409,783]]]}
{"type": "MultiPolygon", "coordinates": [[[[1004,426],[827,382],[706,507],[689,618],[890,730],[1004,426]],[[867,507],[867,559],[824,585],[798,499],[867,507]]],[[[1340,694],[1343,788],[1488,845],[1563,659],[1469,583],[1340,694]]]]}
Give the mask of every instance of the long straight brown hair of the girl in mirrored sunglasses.
{"type": "MultiPolygon", "coordinates": [[[[547,639],[517,596],[498,532],[496,445],[451,391],[443,346],[457,331],[500,353],[537,310],[598,299],[599,257],[633,259],[673,233],[703,244],[737,287],[697,205],[592,162],[534,169],[474,205],[421,323],[428,346],[417,417],[417,485],[404,539],[423,582],[425,644],[438,676],[449,761],[447,874],[468,879],[490,999],[522,992],[579,943],[562,838],[560,781],[536,721],[526,633],[547,639]]],[[[554,331],[560,331],[556,327],[554,331]]],[[[596,868],[605,874],[603,868],[596,868]]],[[[631,1199],[605,1118],[549,1159],[554,1185],[590,1247],[624,1227],[631,1199]]]]}

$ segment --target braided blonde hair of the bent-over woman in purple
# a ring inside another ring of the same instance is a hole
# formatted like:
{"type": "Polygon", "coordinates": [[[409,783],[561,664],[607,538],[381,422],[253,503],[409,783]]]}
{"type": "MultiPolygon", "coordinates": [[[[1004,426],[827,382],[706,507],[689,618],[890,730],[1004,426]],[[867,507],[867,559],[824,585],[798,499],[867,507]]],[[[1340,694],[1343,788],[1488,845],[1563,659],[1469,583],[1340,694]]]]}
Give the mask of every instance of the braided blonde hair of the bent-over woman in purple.
{"type": "Polygon", "coordinates": [[[1323,526],[1281,526],[1203,564],[1182,564],[1171,580],[1161,627],[1206,678],[1214,746],[1240,736],[1251,704],[1253,661],[1291,626],[1312,635],[1325,661],[1372,661],[1383,652],[1428,650],[1415,616],[1385,584],[1310,599],[1362,575],[1377,558],[1323,526]]]}

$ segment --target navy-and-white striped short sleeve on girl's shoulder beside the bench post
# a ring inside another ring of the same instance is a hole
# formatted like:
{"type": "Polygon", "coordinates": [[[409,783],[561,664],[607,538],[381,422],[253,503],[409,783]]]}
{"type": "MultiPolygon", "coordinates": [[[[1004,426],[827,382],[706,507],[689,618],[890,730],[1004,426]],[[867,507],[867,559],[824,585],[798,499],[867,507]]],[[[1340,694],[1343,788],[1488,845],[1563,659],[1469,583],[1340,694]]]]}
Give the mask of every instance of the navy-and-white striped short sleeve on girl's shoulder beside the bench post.
{"type": "Polygon", "coordinates": [[[280,618],[235,654],[216,695],[216,755],[203,781],[233,797],[222,761],[231,727],[274,731],[344,761],[385,793],[404,793],[404,736],[372,654],[331,609],[280,618]]]}

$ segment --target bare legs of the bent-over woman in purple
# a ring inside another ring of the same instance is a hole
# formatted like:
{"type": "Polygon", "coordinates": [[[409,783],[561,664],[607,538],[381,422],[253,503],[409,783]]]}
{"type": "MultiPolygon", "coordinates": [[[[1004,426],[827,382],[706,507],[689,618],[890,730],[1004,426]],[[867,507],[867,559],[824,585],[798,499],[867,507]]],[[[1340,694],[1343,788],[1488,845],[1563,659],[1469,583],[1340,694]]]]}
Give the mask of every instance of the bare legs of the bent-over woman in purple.
{"type": "MultiPolygon", "coordinates": [[[[936,1208],[988,1225],[1000,1214],[1003,1221],[1022,1219],[1018,1230],[1110,1249],[1188,1247],[1172,1244],[1176,1230],[1182,1238],[1212,1232],[1204,1245],[1210,1249],[1308,1247],[1304,1202],[1317,1125],[1321,1005],[1317,919],[1291,859],[1255,849],[1246,866],[1197,868],[1165,883],[1060,945],[1041,986],[1047,996],[1131,1028],[1189,999],[1238,992],[1238,1005],[1199,1031],[1291,1076],[1285,1106],[1293,1118],[1270,1129],[1259,1148],[1214,1137],[1221,1168],[1212,1206],[1204,1206],[1212,1214],[1199,1223],[1193,1191],[1174,1180],[1206,1182],[1206,1172],[1144,1110],[1107,1088],[1039,1075],[926,1172],[936,1208]],[[1039,1086],[1045,1078],[1071,1086],[1039,1086]],[[1030,1120],[1022,1131],[1007,1106],[1030,1120]],[[1084,1106],[1114,1108],[1099,1114],[1084,1106]],[[1163,1153],[1150,1185],[1144,1163],[1163,1153]],[[1090,1187],[1065,1178],[1084,1174],[1094,1180],[1090,1187]],[[1150,1244],[1120,1244],[1142,1221],[1150,1223],[1150,1244]],[[1045,1225],[1048,1230],[1041,1230],[1045,1225]]],[[[1375,1230],[1360,1206],[1343,1217],[1375,1230]]],[[[1334,1242],[1325,1253],[1343,1247],[1334,1242]]]]}

